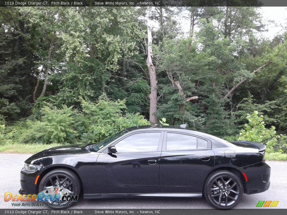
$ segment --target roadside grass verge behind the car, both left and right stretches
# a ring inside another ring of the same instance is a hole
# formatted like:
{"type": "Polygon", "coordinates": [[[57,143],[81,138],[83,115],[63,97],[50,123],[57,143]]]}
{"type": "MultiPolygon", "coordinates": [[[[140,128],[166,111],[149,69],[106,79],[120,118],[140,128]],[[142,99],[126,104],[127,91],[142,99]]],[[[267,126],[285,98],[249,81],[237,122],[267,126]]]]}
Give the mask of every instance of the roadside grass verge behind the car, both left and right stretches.
{"type": "MultiPolygon", "coordinates": [[[[23,144],[23,143],[9,143],[0,145],[0,153],[19,153],[19,154],[35,154],[39,151],[61,145],[59,143],[53,144],[23,144]]],[[[279,152],[266,153],[265,160],[267,161],[287,161],[287,154],[279,152]]]]}

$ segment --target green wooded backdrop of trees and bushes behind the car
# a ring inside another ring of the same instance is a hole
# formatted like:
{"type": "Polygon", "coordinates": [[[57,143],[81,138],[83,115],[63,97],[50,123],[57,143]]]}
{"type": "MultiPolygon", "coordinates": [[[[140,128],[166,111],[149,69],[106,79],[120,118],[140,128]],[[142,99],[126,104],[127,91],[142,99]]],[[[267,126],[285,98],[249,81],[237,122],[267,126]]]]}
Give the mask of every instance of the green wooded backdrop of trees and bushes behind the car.
{"type": "Polygon", "coordinates": [[[15,141],[97,142],[148,124],[146,16],[159,24],[152,29],[158,119],[232,141],[257,110],[270,137],[259,129],[249,138],[286,151],[279,134],[287,127],[287,34],[258,37],[265,26],[256,7],[0,10],[0,124],[15,141]],[[188,36],[177,21],[184,14],[188,36]],[[188,99],[193,96],[198,99],[188,99]]]}

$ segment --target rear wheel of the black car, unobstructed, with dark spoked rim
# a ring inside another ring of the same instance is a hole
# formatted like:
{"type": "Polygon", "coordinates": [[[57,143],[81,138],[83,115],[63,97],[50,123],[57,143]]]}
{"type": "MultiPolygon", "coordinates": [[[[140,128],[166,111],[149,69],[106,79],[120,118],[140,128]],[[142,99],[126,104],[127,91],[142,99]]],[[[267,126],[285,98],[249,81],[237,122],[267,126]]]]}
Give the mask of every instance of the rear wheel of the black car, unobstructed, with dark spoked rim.
{"type": "Polygon", "coordinates": [[[243,186],[234,173],[219,170],[207,176],[203,193],[207,202],[213,207],[231,209],[239,203],[243,194],[243,186]]]}

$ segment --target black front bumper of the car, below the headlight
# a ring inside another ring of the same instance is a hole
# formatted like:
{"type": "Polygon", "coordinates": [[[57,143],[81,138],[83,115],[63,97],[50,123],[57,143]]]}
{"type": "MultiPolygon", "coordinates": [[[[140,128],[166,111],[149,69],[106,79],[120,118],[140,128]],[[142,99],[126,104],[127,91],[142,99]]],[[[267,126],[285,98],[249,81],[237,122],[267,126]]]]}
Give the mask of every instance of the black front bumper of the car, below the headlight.
{"type": "Polygon", "coordinates": [[[36,185],[35,180],[37,176],[38,171],[34,173],[30,173],[25,171],[23,168],[20,172],[20,184],[21,189],[19,190],[19,193],[22,195],[28,195],[28,194],[37,194],[36,192],[36,185]]]}

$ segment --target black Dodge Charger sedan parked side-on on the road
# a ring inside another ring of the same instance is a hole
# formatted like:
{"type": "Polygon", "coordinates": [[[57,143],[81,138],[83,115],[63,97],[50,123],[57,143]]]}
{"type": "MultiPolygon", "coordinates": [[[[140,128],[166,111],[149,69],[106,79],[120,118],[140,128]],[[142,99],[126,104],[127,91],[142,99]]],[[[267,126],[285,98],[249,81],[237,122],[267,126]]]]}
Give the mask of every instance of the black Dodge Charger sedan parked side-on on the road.
{"type": "Polygon", "coordinates": [[[58,187],[84,199],[204,196],[213,207],[230,209],[243,193],[268,190],[264,154],[265,145],[230,143],[184,126],[132,127],[96,144],[31,156],[19,193],[58,187]]]}

